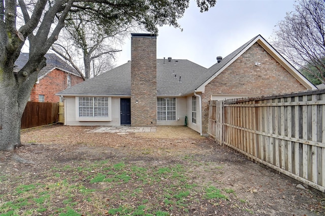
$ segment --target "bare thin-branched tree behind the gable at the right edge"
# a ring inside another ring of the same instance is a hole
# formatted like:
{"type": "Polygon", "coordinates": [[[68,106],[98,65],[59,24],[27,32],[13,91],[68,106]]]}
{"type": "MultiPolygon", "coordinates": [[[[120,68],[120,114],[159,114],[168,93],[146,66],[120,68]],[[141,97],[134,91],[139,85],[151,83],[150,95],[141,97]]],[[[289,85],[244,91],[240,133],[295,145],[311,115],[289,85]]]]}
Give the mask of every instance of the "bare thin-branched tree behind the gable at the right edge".
{"type": "Polygon", "coordinates": [[[278,23],[274,47],[291,63],[325,83],[325,0],[298,3],[295,11],[278,23]]]}

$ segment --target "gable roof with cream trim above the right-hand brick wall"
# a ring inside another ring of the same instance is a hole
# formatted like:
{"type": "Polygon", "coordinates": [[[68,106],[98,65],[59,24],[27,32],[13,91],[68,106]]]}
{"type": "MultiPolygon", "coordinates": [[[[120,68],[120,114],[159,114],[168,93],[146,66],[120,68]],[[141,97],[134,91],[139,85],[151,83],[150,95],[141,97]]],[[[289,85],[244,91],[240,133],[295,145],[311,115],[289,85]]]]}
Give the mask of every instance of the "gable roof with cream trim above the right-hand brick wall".
{"type": "Polygon", "coordinates": [[[279,64],[281,64],[293,77],[295,77],[307,90],[317,89],[311,82],[309,82],[293,65],[291,65],[285,58],[282,57],[262,36],[258,34],[253,39],[249,40],[243,46],[226,56],[219,63],[215,63],[208,70],[197,83],[194,89],[189,89],[188,92],[198,91],[204,92],[204,87],[217,77],[226,67],[232,64],[239,56],[246,52],[253,44],[258,43],[265,49],[279,64]]]}

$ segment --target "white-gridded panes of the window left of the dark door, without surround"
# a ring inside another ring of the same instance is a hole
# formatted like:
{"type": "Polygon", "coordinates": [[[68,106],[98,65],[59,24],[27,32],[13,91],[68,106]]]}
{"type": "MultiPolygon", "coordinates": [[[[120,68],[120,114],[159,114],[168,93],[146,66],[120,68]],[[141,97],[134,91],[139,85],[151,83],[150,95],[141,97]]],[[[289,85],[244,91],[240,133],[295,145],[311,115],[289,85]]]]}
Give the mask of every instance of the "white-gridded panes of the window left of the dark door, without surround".
{"type": "Polygon", "coordinates": [[[79,117],[109,117],[108,97],[79,97],[79,117]]]}

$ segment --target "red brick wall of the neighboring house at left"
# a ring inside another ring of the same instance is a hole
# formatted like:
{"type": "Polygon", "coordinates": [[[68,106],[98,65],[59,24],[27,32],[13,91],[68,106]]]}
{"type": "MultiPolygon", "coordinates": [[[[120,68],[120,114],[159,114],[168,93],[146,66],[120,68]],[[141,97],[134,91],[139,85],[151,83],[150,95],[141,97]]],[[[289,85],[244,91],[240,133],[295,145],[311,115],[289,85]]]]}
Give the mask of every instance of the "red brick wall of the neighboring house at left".
{"type": "MultiPolygon", "coordinates": [[[[71,75],[71,86],[83,82],[81,77],[71,75]]],[[[68,74],[59,69],[53,69],[39,83],[36,83],[31,89],[30,101],[38,102],[39,95],[45,95],[45,102],[59,102],[59,96],[55,95],[68,87],[68,74]]]]}

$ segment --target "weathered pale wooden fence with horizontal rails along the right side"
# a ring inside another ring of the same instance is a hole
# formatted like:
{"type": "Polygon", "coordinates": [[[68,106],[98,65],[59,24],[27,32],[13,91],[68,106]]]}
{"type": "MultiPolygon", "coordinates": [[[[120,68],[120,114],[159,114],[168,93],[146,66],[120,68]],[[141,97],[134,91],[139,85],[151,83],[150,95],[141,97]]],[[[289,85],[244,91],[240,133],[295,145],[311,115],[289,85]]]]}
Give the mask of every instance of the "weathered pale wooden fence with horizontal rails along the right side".
{"type": "Polygon", "coordinates": [[[325,192],[325,90],[210,101],[209,134],[325,192]]]}

